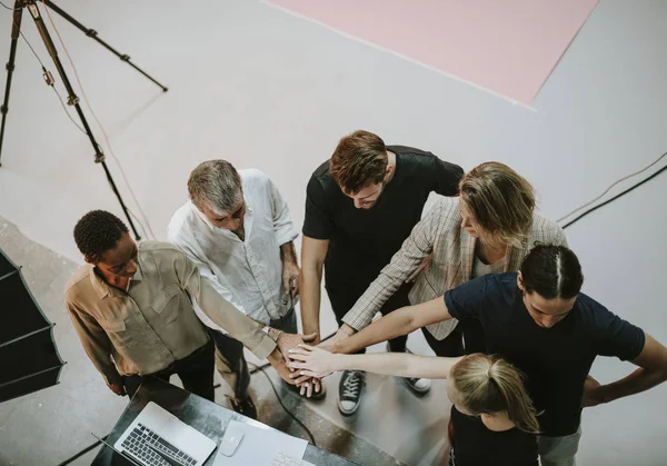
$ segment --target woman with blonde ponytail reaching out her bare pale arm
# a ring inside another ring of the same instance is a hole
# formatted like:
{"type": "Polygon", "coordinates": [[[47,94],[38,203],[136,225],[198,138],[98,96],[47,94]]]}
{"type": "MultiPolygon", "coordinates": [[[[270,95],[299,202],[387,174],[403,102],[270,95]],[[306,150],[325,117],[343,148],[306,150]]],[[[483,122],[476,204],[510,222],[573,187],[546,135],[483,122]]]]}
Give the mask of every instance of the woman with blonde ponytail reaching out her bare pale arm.
{"type": "Polygon", "coordinates": [[[446,358],[410,354],[344,355],[300,345],[288,366],[322,377],[336,370],[366,370],[414,378],[446,378],[452,403],[449,464],[537,466],[537,413],[521,373],[505,359],[482,354],[446,358]]]}

